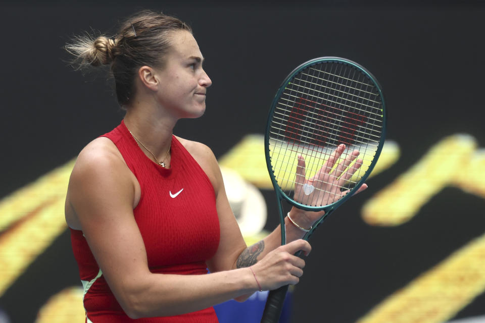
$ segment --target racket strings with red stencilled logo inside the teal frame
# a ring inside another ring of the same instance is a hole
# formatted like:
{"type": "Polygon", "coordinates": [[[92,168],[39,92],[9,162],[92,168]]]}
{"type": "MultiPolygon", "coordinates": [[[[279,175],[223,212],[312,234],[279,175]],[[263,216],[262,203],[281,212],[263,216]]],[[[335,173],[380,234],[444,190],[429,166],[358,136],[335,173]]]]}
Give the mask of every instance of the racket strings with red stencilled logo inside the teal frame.
{"type": "Polygon", "coordinates": [[[288,196],[298,187],[300,196],[295,199],[311,206],[334,203],[359,182],[365,173],[363,165],[373,160],[382,129],[380,94],[366,75],[345,64],[317,65],[288,82],[270,125],[271,165],[278,185],[288,196]],[[305,159],[308,180],[320,174],[340,143],[347,146],[347,152],[325,175],[326,180],[314,178],[312,193],[302,193],[297,156],[305,159]],[[349,161],[352,147],[359,155],[349,161]],[[341,174],[334,176],[337,167],[341,174]]]}

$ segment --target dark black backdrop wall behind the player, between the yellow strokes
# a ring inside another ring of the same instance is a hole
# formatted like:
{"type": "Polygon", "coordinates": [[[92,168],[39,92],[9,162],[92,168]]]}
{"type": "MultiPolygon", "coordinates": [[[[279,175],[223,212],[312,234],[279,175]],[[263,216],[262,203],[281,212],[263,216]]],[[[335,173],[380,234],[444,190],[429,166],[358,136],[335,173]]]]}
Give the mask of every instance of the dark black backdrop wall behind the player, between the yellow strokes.
{"type": "MultiPolygon", "coordinates": [[[[295,290],[293,321],[315,321],[317,315],[355,321],[485,231],[483,199],[454,188],[427,204],[426,217],[399,228],[369,227],[355,215],[367,197],[443,137],[467,133],[485,146],[485,6],[478,2],[4,3],[0,197],[63,165],[119,124],[122,112],[107,75],[73,72],[62,46],[91,28],[113,33],[118,20],[145,8],[175,15],[194,30],[213,85],[206,114],[180,121],[175,133],[208,144],[216,156],[245,134],[263,133],[277,87],[304,61],[348,58],[383,86],[387,138],[399,143],[401,157],[313,238],[314,253],[295,290]]],[[[274,198],[264,195],[271,213],[274,198]]],[[[267,229],[276,223],[270,217],[267,229]]],[[[78,284],[77,274],[65,232],[0,297],[0,307],[13,322],[33,321],[50,295],[78,284]],[[43,282],[54,278],[57,285],[43,282]]],[[[484,306],[479,296],[457,317],[485,314],[484,306]]]]}

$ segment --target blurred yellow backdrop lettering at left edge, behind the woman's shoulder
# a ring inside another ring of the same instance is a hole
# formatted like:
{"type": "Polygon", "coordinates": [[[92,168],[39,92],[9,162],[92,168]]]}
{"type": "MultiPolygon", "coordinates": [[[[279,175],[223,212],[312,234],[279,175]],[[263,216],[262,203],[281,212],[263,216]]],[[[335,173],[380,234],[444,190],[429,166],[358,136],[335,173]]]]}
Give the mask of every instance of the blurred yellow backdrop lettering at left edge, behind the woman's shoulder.
{"type": "Polygon", "coordinates": [[[0,296],[66,228],[74,161],[0,200],[0,296]]]}

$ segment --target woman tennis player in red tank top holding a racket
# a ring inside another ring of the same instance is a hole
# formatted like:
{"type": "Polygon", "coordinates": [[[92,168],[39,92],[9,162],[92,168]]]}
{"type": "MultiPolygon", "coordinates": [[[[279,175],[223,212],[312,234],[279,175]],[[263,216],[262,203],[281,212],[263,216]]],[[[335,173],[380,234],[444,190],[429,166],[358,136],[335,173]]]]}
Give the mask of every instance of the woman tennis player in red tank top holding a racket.
{"type": "Polygon", "coordinates": [[[211,149],[173,134],[179,119],[204,114],[211,86],[190,27],[141,11],[113,38],[66,48],[79,69],[110,67],[126,110],[82,149],[69,182],[86,322],[217,322],[215,304],[297,284],[305,261],[294,254],[310,252],[301,238],[322,214],[293,208],[286,245],[278,227],[247,247],[211,149]]]}

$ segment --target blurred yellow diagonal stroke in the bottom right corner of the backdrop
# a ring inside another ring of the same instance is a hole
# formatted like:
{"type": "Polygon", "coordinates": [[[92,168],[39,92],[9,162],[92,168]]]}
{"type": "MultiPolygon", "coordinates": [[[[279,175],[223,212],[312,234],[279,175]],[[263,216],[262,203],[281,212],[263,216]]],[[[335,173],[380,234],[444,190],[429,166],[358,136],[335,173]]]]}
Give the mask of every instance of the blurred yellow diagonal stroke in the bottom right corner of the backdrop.
{"type": "Polygon", "coordinates": [[[441,323],[485,291],[485,235],[387,297],[358,323],[441,323]]]}

